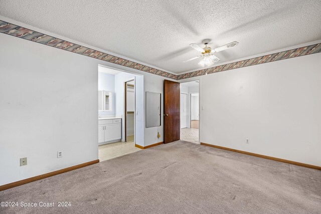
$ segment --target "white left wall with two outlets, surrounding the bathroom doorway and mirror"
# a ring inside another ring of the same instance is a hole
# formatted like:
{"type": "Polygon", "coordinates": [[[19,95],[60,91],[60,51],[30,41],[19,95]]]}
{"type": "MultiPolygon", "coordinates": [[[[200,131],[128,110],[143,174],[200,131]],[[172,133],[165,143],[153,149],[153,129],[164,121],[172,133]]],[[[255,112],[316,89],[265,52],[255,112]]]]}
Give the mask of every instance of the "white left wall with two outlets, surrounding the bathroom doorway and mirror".
{"type": "Polygon", "coordinates": [[[0,185],[98,159],[99,64],[144,75],[136,77],[136,89],[143,91],[136,95],[142,101],[136,115],[142,131],[136,141],[142,146],[163,141],[163,118],[162,126],[145,128],[144,96],[148,90],[163,98],[167,78],[5,34],[0,34],[0,46],[0,185]],[[58,150],[62,158],[57,158],[58,150]],[[19,166],[21,157],[28,158],[27,166],[19,166]]]}

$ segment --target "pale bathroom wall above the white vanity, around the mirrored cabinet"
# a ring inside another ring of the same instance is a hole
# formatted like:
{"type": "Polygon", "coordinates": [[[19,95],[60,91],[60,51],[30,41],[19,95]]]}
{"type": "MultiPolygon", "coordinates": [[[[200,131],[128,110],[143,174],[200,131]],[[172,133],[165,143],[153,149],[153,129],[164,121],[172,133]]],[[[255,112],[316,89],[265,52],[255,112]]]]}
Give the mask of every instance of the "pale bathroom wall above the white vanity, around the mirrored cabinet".
{"type": "MultiPolygon", "coordinates": [[[[98,72],[98,90],[112,92],[115,96],[115,75],[98,72]]],[[[115,114],[116,102],[112,102],[112,111],[98,111],[99,114],[115,114]]]]}

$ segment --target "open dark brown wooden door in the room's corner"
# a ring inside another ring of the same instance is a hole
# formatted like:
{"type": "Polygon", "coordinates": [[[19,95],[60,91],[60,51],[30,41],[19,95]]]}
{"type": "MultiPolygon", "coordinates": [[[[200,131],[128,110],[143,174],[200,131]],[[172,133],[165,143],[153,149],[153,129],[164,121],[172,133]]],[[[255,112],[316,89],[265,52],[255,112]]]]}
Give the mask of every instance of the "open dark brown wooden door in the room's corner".
{"type": "Polygon", "coordinates": [[[180,140],[180,83],[164,81],[164,143],[180,140]]]}

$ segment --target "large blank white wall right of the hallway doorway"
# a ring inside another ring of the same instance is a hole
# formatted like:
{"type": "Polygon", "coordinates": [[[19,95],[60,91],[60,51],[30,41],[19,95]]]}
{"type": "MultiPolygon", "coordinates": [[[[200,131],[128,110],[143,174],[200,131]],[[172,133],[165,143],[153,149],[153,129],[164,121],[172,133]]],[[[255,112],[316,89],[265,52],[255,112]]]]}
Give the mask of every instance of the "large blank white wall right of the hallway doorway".
{"type": "Polygon", "coordinates": [[[321,166],[320,57],[202,76],[201,142],[321,166]]]}

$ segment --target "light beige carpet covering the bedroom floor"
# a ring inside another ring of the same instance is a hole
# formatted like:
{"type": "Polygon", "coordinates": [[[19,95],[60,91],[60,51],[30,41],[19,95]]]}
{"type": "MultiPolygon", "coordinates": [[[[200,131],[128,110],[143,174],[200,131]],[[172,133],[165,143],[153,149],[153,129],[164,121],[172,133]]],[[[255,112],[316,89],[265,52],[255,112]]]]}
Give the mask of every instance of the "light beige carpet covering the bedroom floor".
{"type": "MultiPolygon", "coordinates": [[[[2,174],[3,175],[3,174],[2,174]]],[[[0,213],[320,213],[321,171],[177,141],[0,192],[0,213]]]]}

